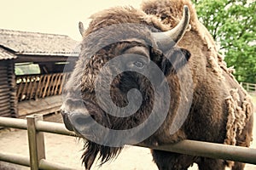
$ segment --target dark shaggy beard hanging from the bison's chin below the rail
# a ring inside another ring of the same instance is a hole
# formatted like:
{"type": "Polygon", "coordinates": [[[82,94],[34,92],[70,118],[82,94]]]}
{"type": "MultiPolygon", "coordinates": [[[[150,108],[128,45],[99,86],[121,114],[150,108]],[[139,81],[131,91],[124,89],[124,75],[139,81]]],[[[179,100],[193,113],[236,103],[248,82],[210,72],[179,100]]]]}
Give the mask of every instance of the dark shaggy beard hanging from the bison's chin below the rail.
{"type": "Polygon", "coordinates": [[[102,166],[107,161],[119,156],[122,149],[122,147],[104,146],[84,139],[84,154],[82,156],[82,161],[85,169],[90,170],[90,167],[96,159],[97,161],[100,161],[99,166],[102,166]],[[97,155],[98,157],[96,157],[97,155]]]}

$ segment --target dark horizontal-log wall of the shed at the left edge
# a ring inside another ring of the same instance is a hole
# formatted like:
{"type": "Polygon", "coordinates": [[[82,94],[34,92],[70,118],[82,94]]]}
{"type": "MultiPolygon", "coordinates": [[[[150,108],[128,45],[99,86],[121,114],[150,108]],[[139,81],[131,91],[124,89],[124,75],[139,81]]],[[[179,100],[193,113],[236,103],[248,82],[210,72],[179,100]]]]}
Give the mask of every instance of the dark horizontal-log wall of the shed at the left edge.
{"type": "Polygon", "coordinates": [[[0,60],[0,116],[17,116],[15,85],[14,60],[0,60]]]}

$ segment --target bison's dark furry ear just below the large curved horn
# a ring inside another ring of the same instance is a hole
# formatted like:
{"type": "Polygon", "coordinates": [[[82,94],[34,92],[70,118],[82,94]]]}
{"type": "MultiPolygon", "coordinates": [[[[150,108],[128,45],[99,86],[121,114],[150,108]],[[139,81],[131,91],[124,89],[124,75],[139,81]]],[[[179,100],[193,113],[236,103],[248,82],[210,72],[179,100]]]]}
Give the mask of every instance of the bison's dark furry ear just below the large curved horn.
{"type": "Polygon", "coordinates": [[[165,76],[176,73],[183,65],[186,65],[190,58],[190,53],[184,48],[172,48],[164,54],[154,54],[154,62],[159,65],[165,76]]]}

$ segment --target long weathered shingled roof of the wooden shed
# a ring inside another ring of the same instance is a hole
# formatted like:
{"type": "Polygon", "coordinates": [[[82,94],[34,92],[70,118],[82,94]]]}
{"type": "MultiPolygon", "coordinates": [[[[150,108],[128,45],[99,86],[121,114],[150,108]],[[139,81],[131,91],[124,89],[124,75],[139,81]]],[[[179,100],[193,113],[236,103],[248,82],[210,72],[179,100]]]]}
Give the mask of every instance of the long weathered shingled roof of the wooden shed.
{"type": "Polygon", "coordinates": [[[0,46],[15,54],[78,56],[78,45],[65,35],[0,29],[0,46]]]}

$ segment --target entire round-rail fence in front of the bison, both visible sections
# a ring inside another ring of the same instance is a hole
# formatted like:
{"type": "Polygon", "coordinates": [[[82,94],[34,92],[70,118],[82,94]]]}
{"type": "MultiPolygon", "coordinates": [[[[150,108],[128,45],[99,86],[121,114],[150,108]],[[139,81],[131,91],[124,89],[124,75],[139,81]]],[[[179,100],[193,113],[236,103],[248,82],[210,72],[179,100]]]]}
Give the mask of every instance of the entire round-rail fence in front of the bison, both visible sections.
{"type": "MultiPolygon", "coordinates": [[[[63,123],[44,122],[42,115],[26,116],[26,120],[0,117],[0,127],[13,127],[26,129],[28,134],[29,158],[16,154],[0,152],[0,161],[7,161],[38,169],[73,169],[46,160],[44,149],[44,133],[57,133],[61,135],[76,136],[67,131],[63,123]]],[[[229,161],[241,161],[256,164],[256,149],[233,146],[227,144],[215,144],[194,140],[183,140],[177,144],[159,146],[137,144],[155,150],[166,150],[191,156],[204,156],[209,158],[224,159],[229,161]]]]}

